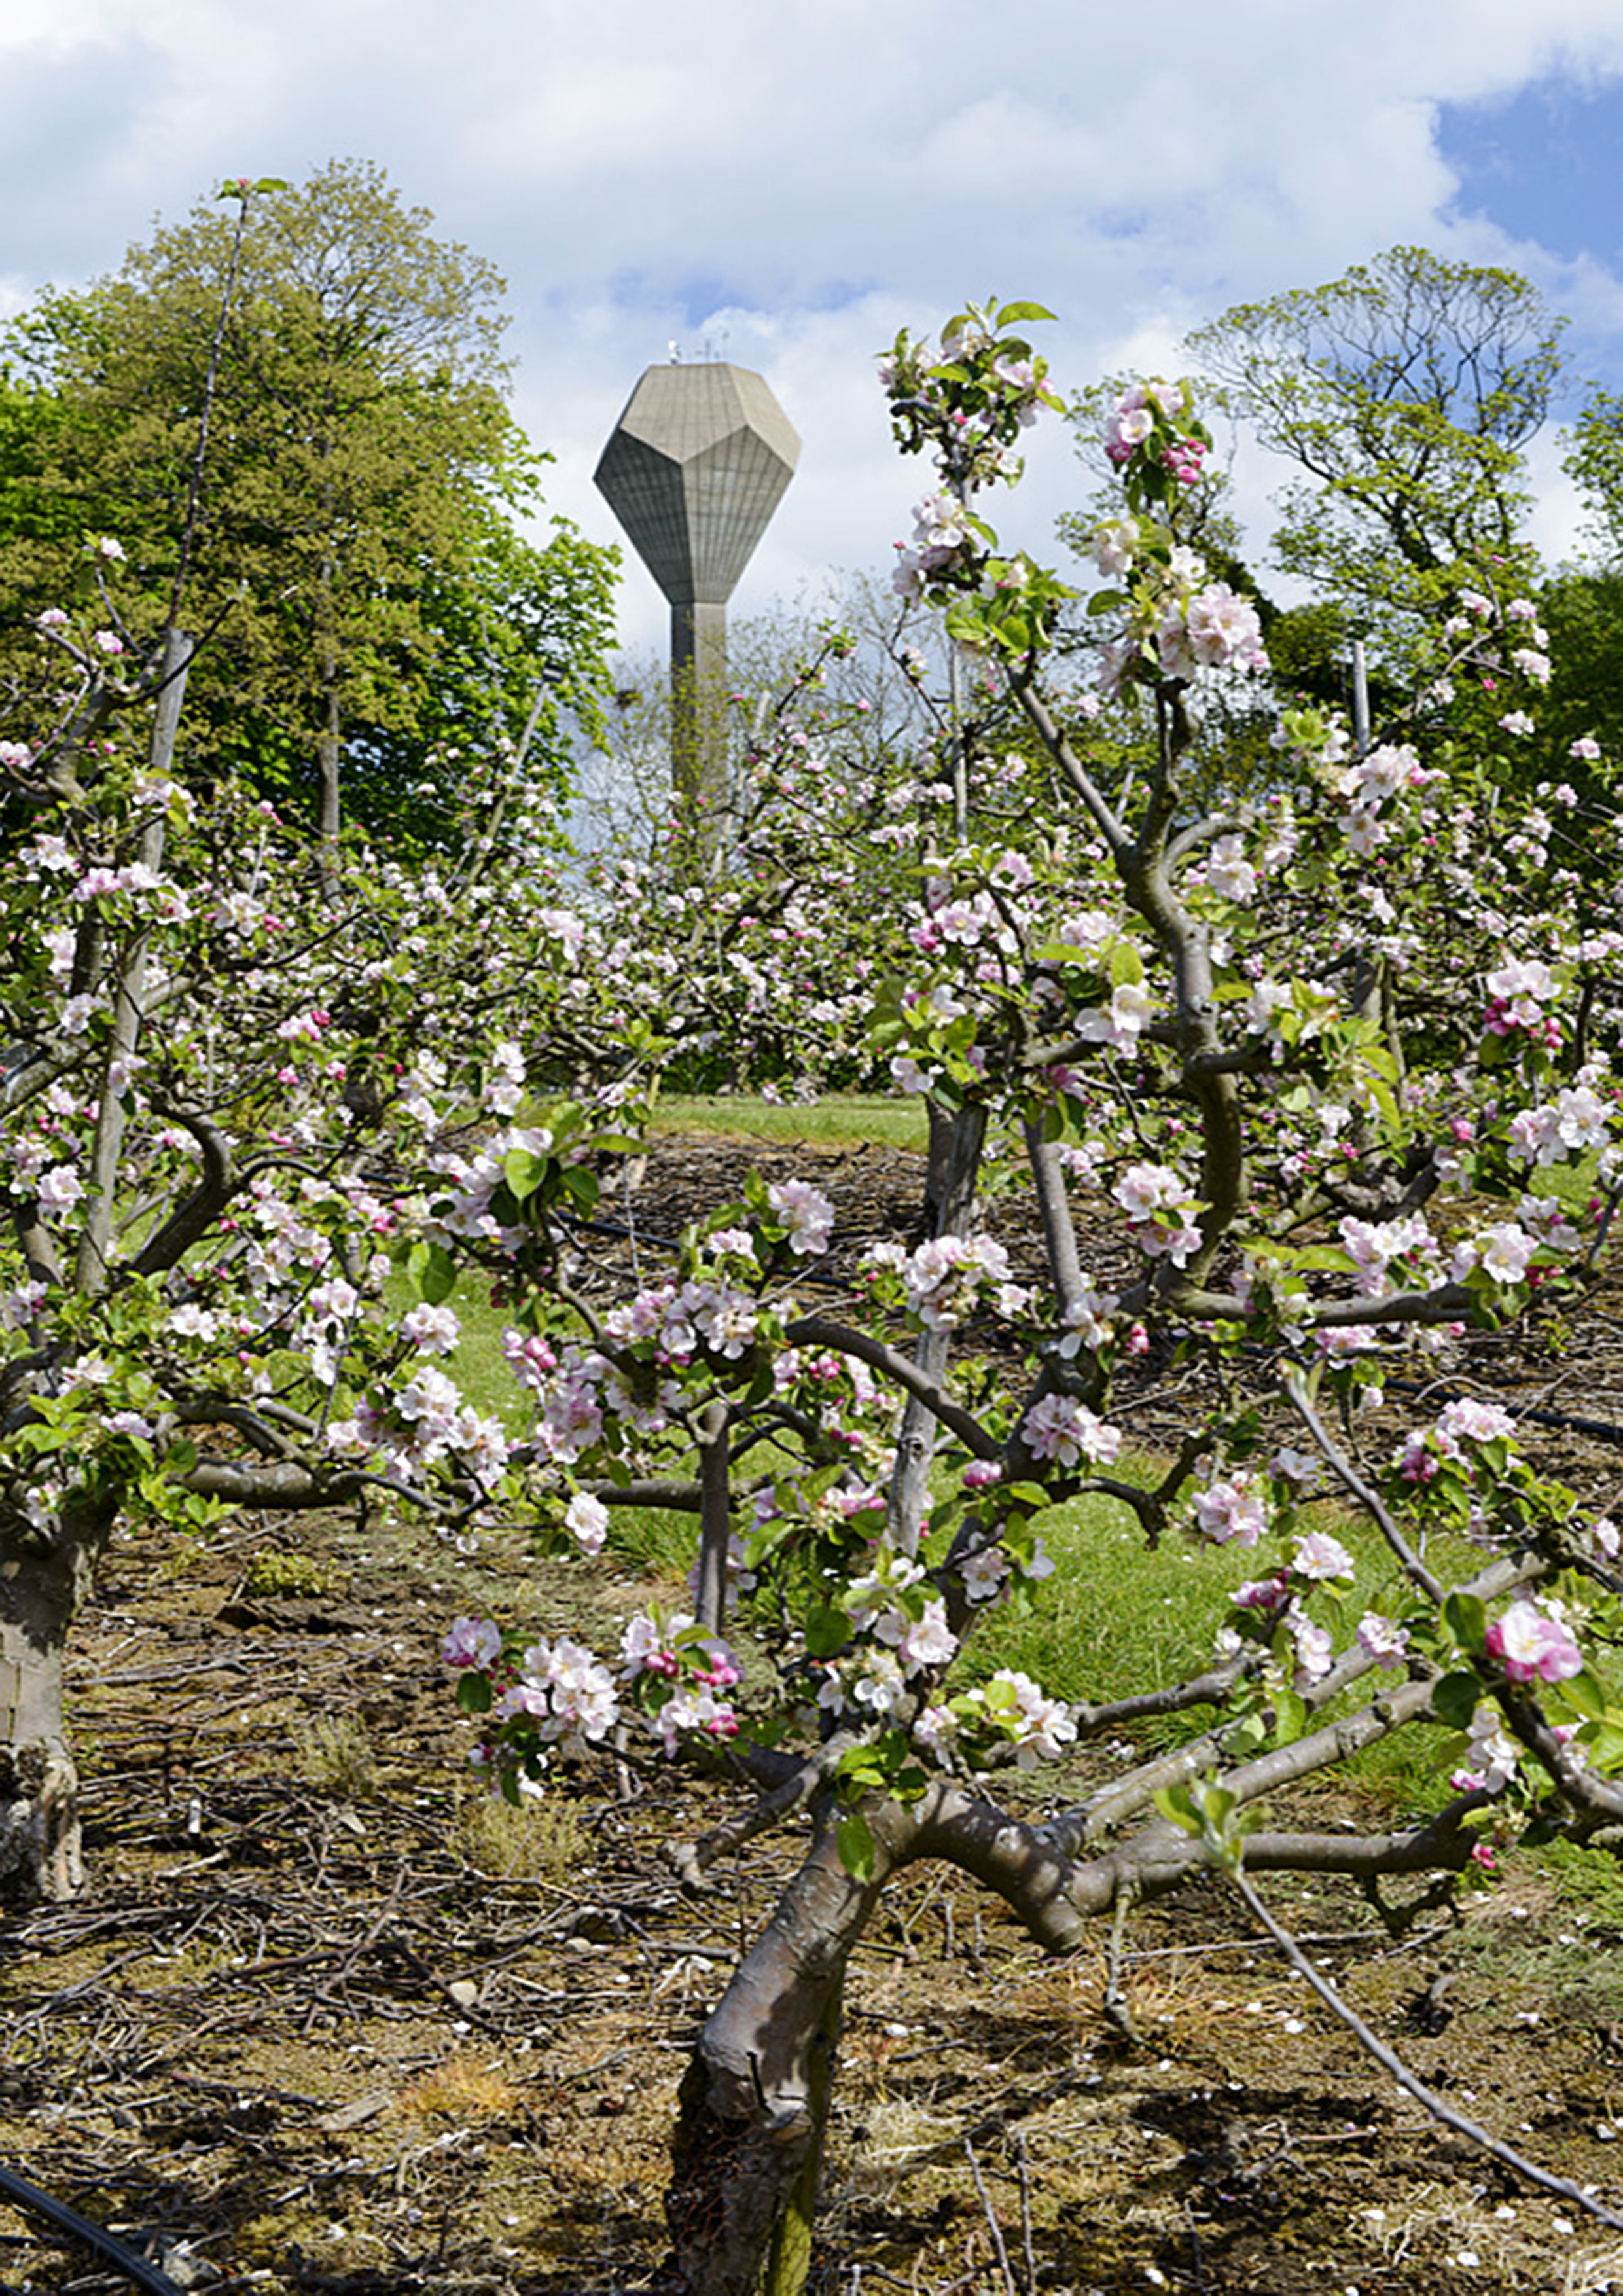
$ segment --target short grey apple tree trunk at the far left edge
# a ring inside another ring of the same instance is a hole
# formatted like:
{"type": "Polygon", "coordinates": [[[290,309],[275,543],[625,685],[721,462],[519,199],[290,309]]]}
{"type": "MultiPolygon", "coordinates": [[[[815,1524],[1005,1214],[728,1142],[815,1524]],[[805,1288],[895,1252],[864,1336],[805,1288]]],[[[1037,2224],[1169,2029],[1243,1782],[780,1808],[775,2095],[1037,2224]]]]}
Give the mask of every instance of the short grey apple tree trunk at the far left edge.
{"type": "Polygon", "coordinates": [[[78,1896],[85,1885],[78,1770],[62,1717],[69,1628],[112,1522],[96,1502],[51,1534],[0,1525],[0,1906],[78,1896]]]}

